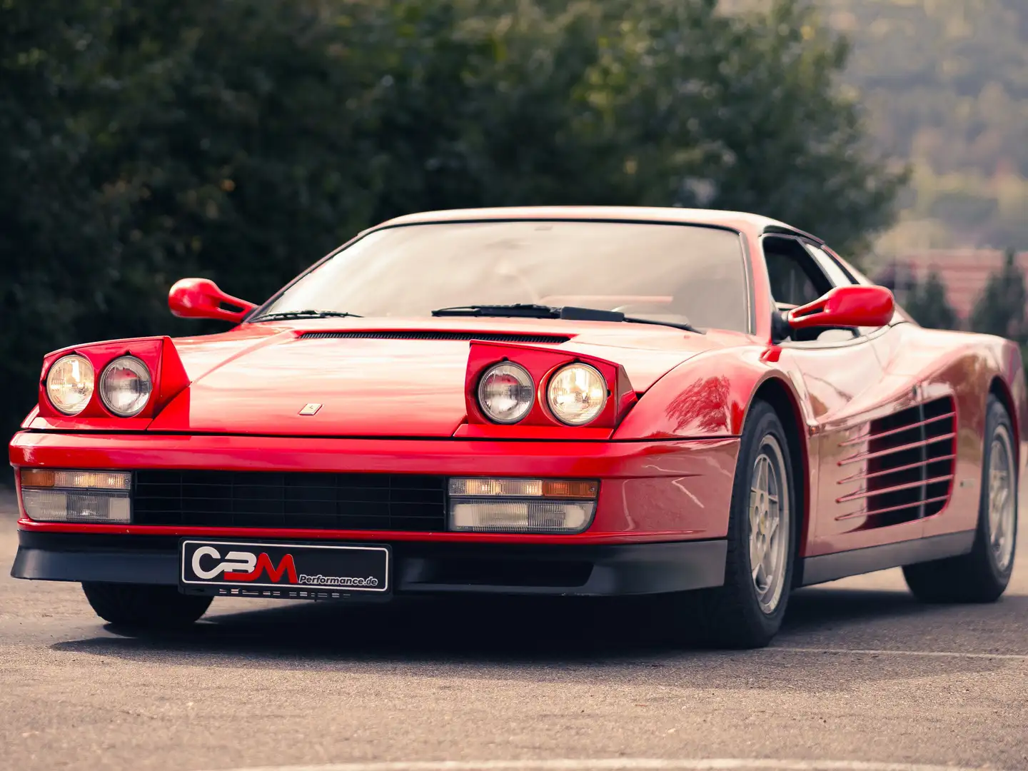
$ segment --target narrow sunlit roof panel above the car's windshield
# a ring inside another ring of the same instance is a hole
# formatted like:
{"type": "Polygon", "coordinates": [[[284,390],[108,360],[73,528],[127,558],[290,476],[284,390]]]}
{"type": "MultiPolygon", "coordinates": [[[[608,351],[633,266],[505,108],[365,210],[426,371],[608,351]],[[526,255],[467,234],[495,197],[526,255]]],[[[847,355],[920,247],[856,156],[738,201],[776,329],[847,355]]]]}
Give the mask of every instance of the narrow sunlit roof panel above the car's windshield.
{"type": "Polygon", "coordinates": [[[694,225],[715,225],[733,230],[757,230],[762,233],[803,235],[819,244],[816,235],[804,232],[784,222],[747,212],[720,209],[681,209],[676,207],[493,207],[483,209],[448,209],[418,212],[382,222],[370,230],[395,225],[429,222],[510,219],[574,219],[574,220],[635,220],[676,222],[694,225]]]}

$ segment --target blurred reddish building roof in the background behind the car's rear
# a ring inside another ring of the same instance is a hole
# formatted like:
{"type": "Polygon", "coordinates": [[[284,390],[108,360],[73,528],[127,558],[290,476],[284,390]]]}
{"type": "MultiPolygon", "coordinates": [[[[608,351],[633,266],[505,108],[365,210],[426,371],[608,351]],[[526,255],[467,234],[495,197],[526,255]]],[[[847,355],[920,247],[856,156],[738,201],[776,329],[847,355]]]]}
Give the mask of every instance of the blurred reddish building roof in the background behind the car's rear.
{"type": "MultiPolygon", "coordinates": [[[[998,249],[939,249],[912,252],[897,257],[876,272],[875,281],[892,283],[902,280],[905,271],[918,282],[934,269],[946,285],[947,298],[957,316],[966,320],[978,301],[985,284],[1003,266],[1004,252],[998,249]]],[[[1017,263],[1028,273],[1028,252],[1020,252],[1017,263]]],[[[902,300],[901,300],[902,302],[902,300]]]]}

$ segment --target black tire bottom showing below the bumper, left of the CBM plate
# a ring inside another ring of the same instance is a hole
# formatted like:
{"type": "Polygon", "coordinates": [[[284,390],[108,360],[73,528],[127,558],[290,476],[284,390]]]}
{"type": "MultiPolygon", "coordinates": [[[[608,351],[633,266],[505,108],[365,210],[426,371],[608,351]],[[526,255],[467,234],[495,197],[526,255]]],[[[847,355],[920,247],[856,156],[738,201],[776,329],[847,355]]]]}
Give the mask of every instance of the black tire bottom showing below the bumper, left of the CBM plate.
{"type": "Polygon", "coordinates": [[[131,629],[177,629],[207,613],[212,597],[190,596],[174,586],[83,583],[93,610],[105,621],[131,629]]]}

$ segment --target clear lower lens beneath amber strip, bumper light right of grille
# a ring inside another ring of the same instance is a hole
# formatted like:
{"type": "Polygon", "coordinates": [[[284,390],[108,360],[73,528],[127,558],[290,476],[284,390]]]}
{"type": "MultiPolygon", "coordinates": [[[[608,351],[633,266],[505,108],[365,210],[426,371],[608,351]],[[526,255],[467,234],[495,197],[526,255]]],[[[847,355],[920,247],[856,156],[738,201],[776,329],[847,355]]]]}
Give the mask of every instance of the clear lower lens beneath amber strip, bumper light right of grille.
{"type": "Polygon", "coordinates": [[[581,533],[596,505],[576,501],[467,500],[450,507],[450,529],[475,533],[581,533]]]}

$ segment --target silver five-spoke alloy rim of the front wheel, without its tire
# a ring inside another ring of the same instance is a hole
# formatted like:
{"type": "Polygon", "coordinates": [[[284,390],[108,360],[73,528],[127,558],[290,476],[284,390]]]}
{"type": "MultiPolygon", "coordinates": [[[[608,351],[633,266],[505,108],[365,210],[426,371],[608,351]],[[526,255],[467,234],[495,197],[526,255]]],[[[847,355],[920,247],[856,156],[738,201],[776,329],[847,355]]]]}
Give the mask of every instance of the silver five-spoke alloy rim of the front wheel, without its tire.
{"type": "Polygon", "coordinates": [[[761,610],[774,613],[785,588],[792,509],[785,457],[768,434],[749,479],[749,571],[761,610]]]}

